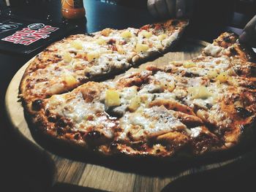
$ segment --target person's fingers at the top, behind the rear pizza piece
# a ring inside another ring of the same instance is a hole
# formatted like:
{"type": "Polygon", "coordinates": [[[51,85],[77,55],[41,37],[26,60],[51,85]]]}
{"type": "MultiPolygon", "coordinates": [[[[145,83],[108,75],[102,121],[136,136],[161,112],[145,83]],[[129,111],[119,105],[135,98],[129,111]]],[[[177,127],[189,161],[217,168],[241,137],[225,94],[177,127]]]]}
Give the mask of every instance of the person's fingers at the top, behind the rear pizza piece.
{"type": "Polygon", "coordinates": [[[148,0],[148,11],[160,18],[184,18],[192,14],[193,0],[148,0]]]}

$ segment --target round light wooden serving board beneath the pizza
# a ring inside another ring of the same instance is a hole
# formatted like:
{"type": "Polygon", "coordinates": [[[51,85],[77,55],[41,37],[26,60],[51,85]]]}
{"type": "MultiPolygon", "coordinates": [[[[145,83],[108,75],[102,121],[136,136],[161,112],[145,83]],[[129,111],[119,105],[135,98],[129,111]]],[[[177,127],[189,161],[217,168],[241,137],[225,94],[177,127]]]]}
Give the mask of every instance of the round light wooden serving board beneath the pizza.
{"type": "MultiPolygon", "coordinates": [[[[156,60],[149,61],[148,63],[141,65],[138,69],[145,69],[145,66],[149,64],[165,65],[170,61],[182,61],[193,58],[200,55],[202,48],[206,44],[206,42],[200,41],[182,42],[180,44],[180,47],[182,48],[178,48],[173,52],[165,53],[165,55],[162,55],[156,60]]],[[[116,170],[99,164],[93,164],[91,161],[90,163],[86,161],[74,161],[50,153],[37,144],[37,142],[31,136],[29,127],[23,115],[23,107],[21,106],[20,101],[18,101],[18,86],[26,67],[29,66],[29,63],[30,61],[20,68],[20,70],[13,77],[9,88],[7,89],[5,101],[7,115],[12,123],[12,128],[14,128],[15,132],[21,136],[20,138],[28,140],[30,145],[34,145],[34,147],[37,147],[38,150],[46,152],[44,154],[49,155],[50,161],[55,164],[54,172],[56,183],[68,183],[71,185],[79,185],[104,191],[161,191],[162,188],[173,182],[173,180],[176,180],[178,177],[219,168],[230,164],[239,158],[231,158],[230,160],[225,160],[218,163],[203,164],[200,166],[197,165],[196,167],[190,167],[189,169],[181,172],[172,173],[172,169],[170,169],[170,174],[167,175],[148,175],[140,174],[138,172],[129,172],[127,169],[126,171],[121,171],[120,169],[116,170]]],[[[138,69],[130,69],[128,72],[138,69]]]]}

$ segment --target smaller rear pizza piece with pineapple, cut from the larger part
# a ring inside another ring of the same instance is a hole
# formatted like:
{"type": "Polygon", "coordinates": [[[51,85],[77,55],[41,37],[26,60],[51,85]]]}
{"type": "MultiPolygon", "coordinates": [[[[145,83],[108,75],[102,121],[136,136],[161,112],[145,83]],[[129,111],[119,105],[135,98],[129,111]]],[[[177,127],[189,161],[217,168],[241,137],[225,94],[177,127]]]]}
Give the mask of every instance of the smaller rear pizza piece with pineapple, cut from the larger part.
{"type": "Polygon", "coordinates": [[[105,28],[94,34],[67,37],[31,61],[20,82],[20,97],[32,112],[31,102],[36,99],[124,72],[172,47],[187,24],[187,20],[167,20],[141,28],[105,28]]]}

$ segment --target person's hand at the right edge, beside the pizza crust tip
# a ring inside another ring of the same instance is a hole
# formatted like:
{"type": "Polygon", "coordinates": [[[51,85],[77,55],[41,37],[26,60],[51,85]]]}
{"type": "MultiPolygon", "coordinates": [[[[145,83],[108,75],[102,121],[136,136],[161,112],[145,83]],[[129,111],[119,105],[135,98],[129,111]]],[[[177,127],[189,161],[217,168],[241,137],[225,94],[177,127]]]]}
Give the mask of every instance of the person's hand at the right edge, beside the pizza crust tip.
{"type": "Polygon", "coordinates": [[[239,40],[256,46],[256,15],[246,24],[243,33],[239,36],[239,40]]]}

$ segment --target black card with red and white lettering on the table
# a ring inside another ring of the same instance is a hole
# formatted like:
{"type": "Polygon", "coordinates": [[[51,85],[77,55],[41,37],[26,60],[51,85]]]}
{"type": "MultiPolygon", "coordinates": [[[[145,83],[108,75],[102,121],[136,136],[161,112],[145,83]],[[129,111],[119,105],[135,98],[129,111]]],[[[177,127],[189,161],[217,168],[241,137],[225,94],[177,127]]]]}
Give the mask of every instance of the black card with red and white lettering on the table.
{"type": "Polygon", "coordinates": [[[63,38],[74,28],[40,20],[0,19],[0,50],[29,54],[63,38]]]}

